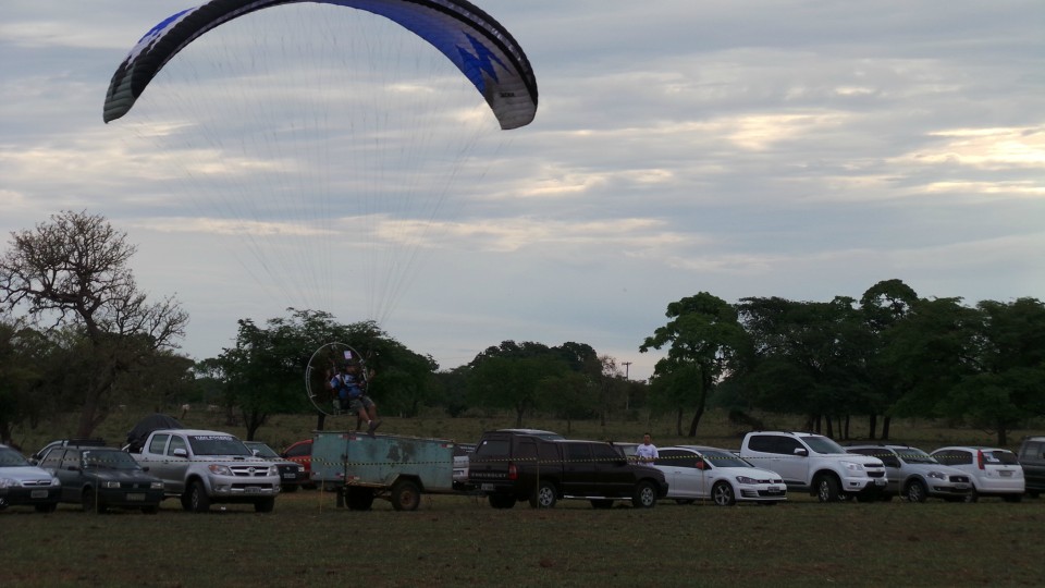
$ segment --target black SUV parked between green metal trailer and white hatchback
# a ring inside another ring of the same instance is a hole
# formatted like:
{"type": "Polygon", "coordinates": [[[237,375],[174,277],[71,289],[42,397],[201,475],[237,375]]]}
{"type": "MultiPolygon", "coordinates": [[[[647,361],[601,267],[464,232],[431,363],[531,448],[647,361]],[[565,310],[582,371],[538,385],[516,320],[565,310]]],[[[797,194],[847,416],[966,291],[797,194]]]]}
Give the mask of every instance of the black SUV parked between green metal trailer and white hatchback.
{"type": "Polygon", "coordinates": [[[494,509],[511,509],[520,500],[550,509],[560,499],[589,500],[595,509],[626,500],[650,509],[667,494],[662,471],[628,463],[610,443],[504,430],[483,433],[471,454],[468,482],[494,509]]]}

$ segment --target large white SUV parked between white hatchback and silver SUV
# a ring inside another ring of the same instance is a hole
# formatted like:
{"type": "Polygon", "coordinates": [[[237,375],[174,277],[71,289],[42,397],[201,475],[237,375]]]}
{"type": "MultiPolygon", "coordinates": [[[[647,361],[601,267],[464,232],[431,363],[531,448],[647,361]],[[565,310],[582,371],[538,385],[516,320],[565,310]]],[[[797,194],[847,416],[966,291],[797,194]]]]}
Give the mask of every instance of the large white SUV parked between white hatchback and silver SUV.
{"type": "Polygon", "coordinates": [[[878,500],[888,479],[882,460],[847,453],[838,443],[811,432],[753,431],[743,436],[740,456],[776,471],[789,489],[808,491],[821,502],[850,497],[878,500]]]}

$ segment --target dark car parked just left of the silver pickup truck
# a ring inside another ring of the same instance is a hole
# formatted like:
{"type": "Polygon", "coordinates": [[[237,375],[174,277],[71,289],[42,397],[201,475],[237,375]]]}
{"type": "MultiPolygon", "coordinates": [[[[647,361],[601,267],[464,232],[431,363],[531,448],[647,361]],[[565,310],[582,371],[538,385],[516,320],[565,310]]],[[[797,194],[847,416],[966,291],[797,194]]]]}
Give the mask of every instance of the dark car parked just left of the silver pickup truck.
{"type": "Polygon", "coordinates": [[[79,504],[86,512],[122,507],[155,514],[163,500],[163,481],[116,448],[51,448],[40,467],[61,480],[61,502],[79,504]]]}

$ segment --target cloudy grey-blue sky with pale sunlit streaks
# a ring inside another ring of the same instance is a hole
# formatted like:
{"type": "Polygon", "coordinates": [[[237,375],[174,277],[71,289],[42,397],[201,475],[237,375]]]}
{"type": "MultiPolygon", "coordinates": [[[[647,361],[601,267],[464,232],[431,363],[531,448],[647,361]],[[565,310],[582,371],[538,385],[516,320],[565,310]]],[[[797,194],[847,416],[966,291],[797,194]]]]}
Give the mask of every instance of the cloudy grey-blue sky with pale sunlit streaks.
{"type": "Polygon", "coordinates": [[[295,307],[378,319],[444,368],[575,341],[644,378],[643,338],[701,291],[1045,297],[1040,0],[478,3],[534,69],[524,128],[489,132],[474,90],[401,101],[456,90],[406,35],[311,5],[206,35],[107,125],[115,66],[190,3],[4,0],[0,230],[103,215],[196,358],[295,307]],[[372,94],[389,56],[413,70],[372,94]],[[288,122],[300,102],[322,122],[288,122]],[[410,133],[373,122],[403,111],[410,133]]]}

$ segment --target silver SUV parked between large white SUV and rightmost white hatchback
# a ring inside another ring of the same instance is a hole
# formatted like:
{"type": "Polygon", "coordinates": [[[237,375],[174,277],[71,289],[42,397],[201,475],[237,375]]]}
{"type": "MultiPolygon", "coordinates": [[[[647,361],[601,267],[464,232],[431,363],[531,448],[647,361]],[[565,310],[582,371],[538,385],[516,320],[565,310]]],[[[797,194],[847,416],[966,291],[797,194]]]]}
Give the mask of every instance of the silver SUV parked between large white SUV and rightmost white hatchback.
{"type": "Polygon", "coordinates": [[[968,474],[941,464],[918,448],[853,444],[847,445],[846,450],[882,460],[889,480],[884,497],[886,500],[899,494],[908,502],[925,502],[930,497],[957,502],[966,501],[972,494],[972,481],[968,474]]]}

